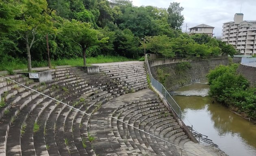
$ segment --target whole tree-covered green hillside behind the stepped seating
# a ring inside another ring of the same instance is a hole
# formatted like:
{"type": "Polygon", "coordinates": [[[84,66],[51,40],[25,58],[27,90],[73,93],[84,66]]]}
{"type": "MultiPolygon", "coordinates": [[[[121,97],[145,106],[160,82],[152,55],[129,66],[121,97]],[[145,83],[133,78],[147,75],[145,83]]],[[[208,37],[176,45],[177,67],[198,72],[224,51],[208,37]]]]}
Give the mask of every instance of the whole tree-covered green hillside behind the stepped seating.
{"type": "Polygon", "coordinates": [[[133,6],[129,0],[1,0],[0,70],[15,61],[30,71],[48,56],[82,57],[84,65],[87,57],[99,55],[137,59],[144,47],[146,53],[168,57],[236,52],[205,34],[182,33],[183,9],[177,2],[163,9],[133,6]]]}

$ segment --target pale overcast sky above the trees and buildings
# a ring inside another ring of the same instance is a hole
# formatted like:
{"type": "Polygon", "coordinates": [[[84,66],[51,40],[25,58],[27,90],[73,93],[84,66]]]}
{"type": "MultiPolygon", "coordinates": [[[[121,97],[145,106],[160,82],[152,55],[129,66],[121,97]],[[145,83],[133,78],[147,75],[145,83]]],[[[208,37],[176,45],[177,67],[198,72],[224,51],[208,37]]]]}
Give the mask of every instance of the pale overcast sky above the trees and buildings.
{"type": "MultiPolygon", "coordinates": [[[[181,12],[184,15],[182,31],[199,24],[214,26],[215,36],[221,36],[224,22],[234,19],[235,13],[243,13],[243,20],[256,20],[256,0],[132,0],[135,6],[156,6],[168,8],[170,2],[179,2],[184,7],[181,12]]],[[[189,30],[187,30],[189,31],[189,30]]]]}

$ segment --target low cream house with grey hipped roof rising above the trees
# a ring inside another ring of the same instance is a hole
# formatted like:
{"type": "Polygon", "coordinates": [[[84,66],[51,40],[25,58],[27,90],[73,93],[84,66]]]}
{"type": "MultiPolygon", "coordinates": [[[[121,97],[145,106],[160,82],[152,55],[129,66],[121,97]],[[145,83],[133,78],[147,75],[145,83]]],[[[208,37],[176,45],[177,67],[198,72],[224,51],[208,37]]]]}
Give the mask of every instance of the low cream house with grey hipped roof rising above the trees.
{"type": "Polygon", "coordinates": [[[213,29],[214,29],[213,26],[208,26],[206,24],[200,24],[198,26],[189,28],[189,30],[190,30],[189,34],[207,34],[212,37],[213,29]]]}

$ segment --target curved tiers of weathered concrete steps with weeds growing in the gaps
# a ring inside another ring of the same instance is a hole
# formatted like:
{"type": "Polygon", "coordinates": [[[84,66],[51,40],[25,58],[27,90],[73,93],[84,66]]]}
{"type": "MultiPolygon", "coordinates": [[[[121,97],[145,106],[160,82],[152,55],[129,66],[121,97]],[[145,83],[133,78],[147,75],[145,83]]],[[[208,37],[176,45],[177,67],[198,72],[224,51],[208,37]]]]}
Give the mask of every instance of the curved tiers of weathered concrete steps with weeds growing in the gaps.
{"type": "MultiPolygon", "coordinates": [[[[127,129],[119,121],[112,120],[107,128],[107,117],[113,115],[167,141],[183,143],[186,140],[184,132],[156,95],[125,105],[118,102],[105,105],[120,95],[148,87],[144,63],[102,65],[100,71],[101,74],[87,75],[75,67],[53,69],[53,81],[46,84],[35,83],[22,75],[11,76],[88,113],[91,118],[0,78],[0,93],[6,102],[6,106],[0,108],[0,156],[174,154],[163,152],[163,142],[130,126],[127,129]]],[[[175,150],[169,145],[165,148],[175,150]]]]}

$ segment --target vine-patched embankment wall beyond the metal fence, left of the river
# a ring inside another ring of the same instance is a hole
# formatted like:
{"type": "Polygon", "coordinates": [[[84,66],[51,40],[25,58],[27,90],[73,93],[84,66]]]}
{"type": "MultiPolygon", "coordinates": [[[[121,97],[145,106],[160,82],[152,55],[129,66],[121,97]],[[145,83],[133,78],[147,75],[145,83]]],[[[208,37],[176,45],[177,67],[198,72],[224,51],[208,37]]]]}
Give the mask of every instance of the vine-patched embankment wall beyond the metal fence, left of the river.
{"type": "Polygon", "coordinates": [[[172,91],[182,85],[205,80],[210,69],[214,69],[217,65],[228,65],[228,58],[189,61],[189,67],[184,69],[180,69],[176,61],[169,62],[169,64],[161,65],[162,60],[158,63],[156,60],[149,60],[153,77],[160,81],[168,91],[172,91]]]}

